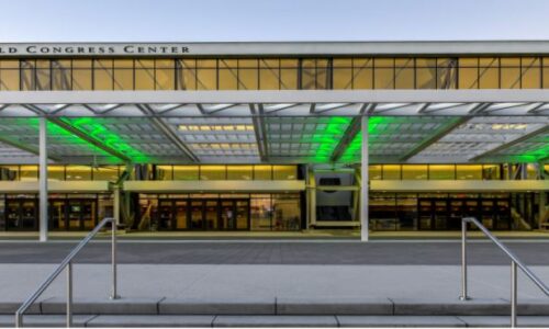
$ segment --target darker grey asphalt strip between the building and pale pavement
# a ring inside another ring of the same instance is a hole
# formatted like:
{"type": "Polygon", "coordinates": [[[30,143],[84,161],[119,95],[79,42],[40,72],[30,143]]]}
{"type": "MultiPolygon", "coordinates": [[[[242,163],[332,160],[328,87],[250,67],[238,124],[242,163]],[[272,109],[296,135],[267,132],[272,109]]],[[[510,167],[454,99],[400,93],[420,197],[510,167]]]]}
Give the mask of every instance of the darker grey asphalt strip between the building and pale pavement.
{"type": "MultiPolygon", "coordinates": [[[[58,263],[76,242],[2,242],[0,263],[58,263]]],[[[326,264],[458,265],[459,242],[121,242],[119,262],[126,264],[326,264]]],[[[549,265],[548,242],[507,242],[526,264],[549,265]]],[[[505,265],[508,259],[493,245],[471,241],[470,264],[505,265]]],[[[110,262],[110,245],[88,245],[78,263],[110,262]]]]}

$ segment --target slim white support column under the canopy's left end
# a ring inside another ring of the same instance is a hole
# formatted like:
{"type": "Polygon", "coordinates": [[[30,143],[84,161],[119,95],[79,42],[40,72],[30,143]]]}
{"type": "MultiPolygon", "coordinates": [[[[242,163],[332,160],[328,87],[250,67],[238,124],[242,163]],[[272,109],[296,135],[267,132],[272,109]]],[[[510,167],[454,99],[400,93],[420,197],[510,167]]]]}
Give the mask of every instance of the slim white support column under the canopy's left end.
{"type": "Polygon", "coordinates": [[[40,118],[38,132],[38,194],[40,194],[40,240],[47,241],[47,120],[40,118]]]}

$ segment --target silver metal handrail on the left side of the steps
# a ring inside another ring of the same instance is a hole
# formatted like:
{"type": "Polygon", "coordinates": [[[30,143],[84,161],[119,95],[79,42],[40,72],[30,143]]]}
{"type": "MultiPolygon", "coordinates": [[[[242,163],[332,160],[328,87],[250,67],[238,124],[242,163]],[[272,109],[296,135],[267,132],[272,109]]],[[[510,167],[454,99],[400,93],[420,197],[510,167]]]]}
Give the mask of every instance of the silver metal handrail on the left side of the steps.
{"type": "Polygon", "coordinates": [[[15,311],[15,327],[23,326],[23,315],[31,307],[31,305],[36,302],[36,299],[44,293],[44,291],[55,281],[57,276],[67,269],[67,327],[72,326],[72,259],[82,250],[86,245],[103,228],[107,223],[112,223],[112,234],[111,234],[111,274],[112,274],[112,286],[111,299],[120,298],[116,295],[116,223],[114,218],[107,217],[101,223],[96,226],[87,236],[83,238],[78,246],[76,246],[70,253],[61,261],[61,263],[55,269],[55,271],[47,276],[47,279],[34,291],[34,293],[18,308],[15,311]]]}

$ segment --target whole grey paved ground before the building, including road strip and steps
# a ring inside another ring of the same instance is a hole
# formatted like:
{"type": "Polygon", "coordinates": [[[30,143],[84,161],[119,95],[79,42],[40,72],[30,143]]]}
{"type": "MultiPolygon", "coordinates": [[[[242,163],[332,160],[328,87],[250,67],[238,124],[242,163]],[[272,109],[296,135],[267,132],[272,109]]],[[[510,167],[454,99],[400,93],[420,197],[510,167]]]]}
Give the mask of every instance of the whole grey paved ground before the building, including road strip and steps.
{"type": "MultiPolygon", "coordinates": [[[[549,243],[507,245],[549,281],[549,243]]],[[[0,325],[12,324],[16,306],[71,246],[0,243],[0,325]]],[[[75,265],[75,319],[86,326],[506,326],[508,261],[492,245],[472,241],[472,299],[461,302],[459,246],[122,241],[122,298],[113,302],[108,298],[109,243],[100,241],[88,246],[75,265]]],[[[549,326],[549,299],[523,274],[518,286],[519,324],[549,326]]],[[[61,275],[30,310],[27,324],[61,324],[64,297],[61,275]]]]}

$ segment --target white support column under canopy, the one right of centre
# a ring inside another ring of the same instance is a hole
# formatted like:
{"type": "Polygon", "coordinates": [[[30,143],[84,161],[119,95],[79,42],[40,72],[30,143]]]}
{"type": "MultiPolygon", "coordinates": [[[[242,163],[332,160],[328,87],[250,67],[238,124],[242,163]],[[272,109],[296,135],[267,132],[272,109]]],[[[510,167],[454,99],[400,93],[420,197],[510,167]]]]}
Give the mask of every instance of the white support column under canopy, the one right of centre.
{"type": "Polygon", "coordinates": [[[369,193],[370,182],[368,177],[368,116],[362,116],[361,120],[361,131],[362,131],[362,161],[360,163],[360,223],[361,223],[361,231],[360,239],[362,241],[368,241],[368,230],[369,230],[369,220],[368,220],[368,205],[369,202],[369,193]]]}

